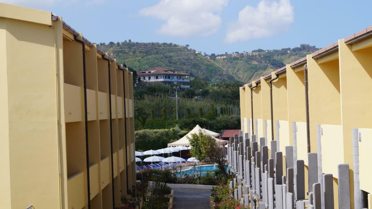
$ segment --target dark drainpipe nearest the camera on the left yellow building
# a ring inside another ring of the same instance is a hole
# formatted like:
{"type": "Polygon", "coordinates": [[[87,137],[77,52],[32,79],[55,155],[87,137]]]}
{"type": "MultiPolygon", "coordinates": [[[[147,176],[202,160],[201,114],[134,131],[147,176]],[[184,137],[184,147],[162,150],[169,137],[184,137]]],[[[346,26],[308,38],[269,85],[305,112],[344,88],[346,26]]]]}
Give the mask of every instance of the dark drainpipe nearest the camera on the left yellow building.
{"type": "Polygon", "coordinates": [[[88,209],[90,209],[90,177],[89,177],[89,145],[88,145],[88,110],[87,110],[87,78],[85,68],[85,44],[74,36],[75,41],[81,44],[83,50],[83,81],[84,81],[84,122],[85,122],[85,152],[87,163],[87,187],[88,187],[88,209]]]}

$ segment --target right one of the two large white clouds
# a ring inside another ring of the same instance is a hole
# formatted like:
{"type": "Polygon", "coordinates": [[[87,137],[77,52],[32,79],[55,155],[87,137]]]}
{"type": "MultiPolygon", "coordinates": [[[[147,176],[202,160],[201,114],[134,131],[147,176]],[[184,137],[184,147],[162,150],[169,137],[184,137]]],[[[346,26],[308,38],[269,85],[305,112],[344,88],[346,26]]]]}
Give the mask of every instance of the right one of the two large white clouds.
{"type": "Polygon", "coordinates": [[[289,0],[262,0],[257,7],[247,5],[240,10],[225,41],[234,43],[272,36],[288,30],[293,21],[294,11],[289,0]]]}

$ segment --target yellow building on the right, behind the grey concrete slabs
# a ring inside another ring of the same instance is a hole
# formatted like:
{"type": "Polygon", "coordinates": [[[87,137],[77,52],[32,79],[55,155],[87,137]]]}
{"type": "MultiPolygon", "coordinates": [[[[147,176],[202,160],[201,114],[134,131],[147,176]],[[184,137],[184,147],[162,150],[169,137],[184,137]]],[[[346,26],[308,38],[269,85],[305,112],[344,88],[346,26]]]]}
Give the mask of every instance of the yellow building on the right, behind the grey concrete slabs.
{"type": "Polygon", "coordinates": [[[318,153],[320,172],[333,174],[336,208],[339,205],[337,165],[342,163],[350,168],[350,207],[361,208],[368,202],[372,208],[369,194],[372,193],[371,57],[372,26],[240,88],[244,132],[266,137],[268,146],[273,136],[283,155],[285,147],[296,142],[296,156],[305,161],[305,169],[308,169],[308,149],[318,153]]]}

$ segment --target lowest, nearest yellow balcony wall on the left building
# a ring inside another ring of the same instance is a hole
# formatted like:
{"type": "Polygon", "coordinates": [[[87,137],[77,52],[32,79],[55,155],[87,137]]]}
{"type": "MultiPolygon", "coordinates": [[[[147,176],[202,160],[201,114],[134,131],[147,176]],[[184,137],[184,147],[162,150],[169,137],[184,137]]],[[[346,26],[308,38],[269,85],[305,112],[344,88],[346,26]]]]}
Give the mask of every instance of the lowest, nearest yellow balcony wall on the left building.
{"type": "Polygon", "coordinates": [[[77,173],[67,179],[67,199],[68,208],[84,208],[84,173],[77,173]]]}

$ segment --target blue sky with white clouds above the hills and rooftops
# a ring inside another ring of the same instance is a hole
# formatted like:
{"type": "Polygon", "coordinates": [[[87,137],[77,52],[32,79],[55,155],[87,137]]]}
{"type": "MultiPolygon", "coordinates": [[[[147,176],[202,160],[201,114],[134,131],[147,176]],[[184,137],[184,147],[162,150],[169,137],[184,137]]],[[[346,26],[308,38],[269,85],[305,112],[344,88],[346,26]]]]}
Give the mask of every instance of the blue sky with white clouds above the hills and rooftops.
{"type": "Polygon", "coordinates": [[[371,0],[0,0],[51,11],[94,43],[172,42],[207,54],[323,48],[372,25],[371,0]]]}

